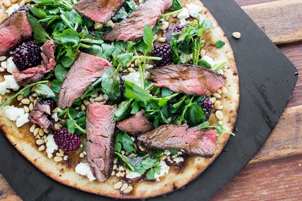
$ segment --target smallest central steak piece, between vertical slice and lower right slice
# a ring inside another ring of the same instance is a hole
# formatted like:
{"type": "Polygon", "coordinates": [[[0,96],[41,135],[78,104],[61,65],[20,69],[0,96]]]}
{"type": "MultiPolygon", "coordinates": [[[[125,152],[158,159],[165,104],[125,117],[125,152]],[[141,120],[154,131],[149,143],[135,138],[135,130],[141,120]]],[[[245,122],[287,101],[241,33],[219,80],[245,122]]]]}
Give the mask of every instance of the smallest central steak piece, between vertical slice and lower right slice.
{"type": "Polygon", "coordinates": [[[153,129],[152,124],[146,118],[145,112],[143,110],[139,111],[135,115],[132,115],[128,119],[122,122],[117,122],[116,127],[126,132],[129,135],[136,135],[139,133],[145,133],[153,129]]]}

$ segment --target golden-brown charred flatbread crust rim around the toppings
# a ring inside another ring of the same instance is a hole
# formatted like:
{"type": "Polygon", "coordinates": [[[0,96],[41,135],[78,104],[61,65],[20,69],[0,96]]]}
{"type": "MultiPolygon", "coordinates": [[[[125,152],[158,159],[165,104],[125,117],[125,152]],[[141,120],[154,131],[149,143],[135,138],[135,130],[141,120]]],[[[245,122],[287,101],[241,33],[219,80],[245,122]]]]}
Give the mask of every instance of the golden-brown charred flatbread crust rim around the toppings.
{"type": "MultiPolygon", "coordinates": [[[[228,89],[228,93],[222,94],[219,100],[223,106],[221,110],[224,115],[222,126],[232,131],[239,107],[239,77],[233,50],[224,32],[209,11],[203,7],[203,4],[198,0],[182,0],[182,5],[190,3],[200,6],[202,8],[201,13],[214,22],[213,27],[207,30],[203,36],[206,43],[202,49],[206,51],[206,55],[212,57],[214,60],[229,59],[229,63],[224,66],[223,70],[224,75],[227,77],[225,87],[228,89]],[[218,40],[224,41],[225,45],[217,50],[215,43],[218,40]]],[[[0,76],[0,81],[3,81],[3,76],[0,76]]],[[[215,115],[211,115],[209,122],[211,125],[215,125],[218,120],[215,115]]],[[[141,181],[135,184],[134,190],[131,193],[123,195],[119,190],[113,188],[113,184],[120,180],[116,176],[111,176],[105,183],[98,182],[97,180],[89,181],[87,177],[76,173],[73,165],[54,162],[53,159],[49,160],[45,151],[38,151],[34,136],[29,132],[30,126],[31,123],[27,123],[22,128],[17,128],[16,123],[6,118],[3,111],[0,110],[0,129],[4,135],[24,157],[47,176],[62,184],[83,191],[127,199],[153,197],[181,188],[194,180],[215,160],[230,138],[230,134],[226,132],[216,137],[217,148],[213,157],[189,157],[182,169],[170,168],[169,173],[160,177],[159,182],[141,181]]],[[[72,158],[70,159],[72,160],[72,158]]],[[[86,158],[74,158],[73,160],[87,162],[86,158]]]]}

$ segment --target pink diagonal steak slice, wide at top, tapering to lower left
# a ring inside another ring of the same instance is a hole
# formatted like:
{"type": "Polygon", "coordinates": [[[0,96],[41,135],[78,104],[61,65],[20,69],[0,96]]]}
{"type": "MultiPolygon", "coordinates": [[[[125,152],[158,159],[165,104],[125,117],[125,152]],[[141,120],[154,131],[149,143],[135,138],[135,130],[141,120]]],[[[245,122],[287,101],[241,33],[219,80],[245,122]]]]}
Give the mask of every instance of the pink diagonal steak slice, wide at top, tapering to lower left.
{"type": "Polygon", "coordinates": [[[81,97],[84,91],[111,66],[109,61],[101,57],[80,52],[63,80],[57,106],[61,109],[71,106],[73,100],[81,97]]]}

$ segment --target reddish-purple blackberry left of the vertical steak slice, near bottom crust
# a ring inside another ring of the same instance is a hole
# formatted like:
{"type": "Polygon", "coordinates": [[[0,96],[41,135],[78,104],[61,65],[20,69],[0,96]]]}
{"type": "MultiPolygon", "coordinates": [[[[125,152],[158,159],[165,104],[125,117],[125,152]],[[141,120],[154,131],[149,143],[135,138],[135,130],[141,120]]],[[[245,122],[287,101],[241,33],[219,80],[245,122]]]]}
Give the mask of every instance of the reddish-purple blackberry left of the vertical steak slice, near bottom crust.
{"type": "Polygon", "coordinates": [[[81,144],[79,136],[68,133],[66,128],[58,129],[54,132],[53,139],[55,144],[64,150],[65,153],[71,153],[78,149],[81,144]]]}

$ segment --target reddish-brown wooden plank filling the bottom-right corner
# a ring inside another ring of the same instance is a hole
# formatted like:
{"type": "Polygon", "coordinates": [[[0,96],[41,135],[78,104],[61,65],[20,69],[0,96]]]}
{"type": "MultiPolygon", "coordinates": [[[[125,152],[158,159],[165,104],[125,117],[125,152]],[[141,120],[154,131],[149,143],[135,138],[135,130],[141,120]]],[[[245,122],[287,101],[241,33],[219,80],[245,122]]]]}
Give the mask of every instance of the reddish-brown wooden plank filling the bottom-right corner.
{"type": "Polygon", "coordinates": [[[302,155],[247,165],[211,201],[301,200],[302,155]]]}

